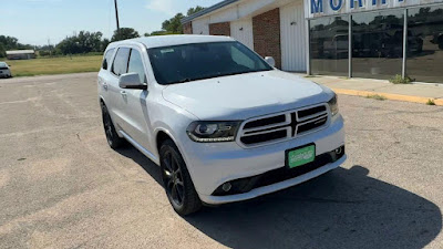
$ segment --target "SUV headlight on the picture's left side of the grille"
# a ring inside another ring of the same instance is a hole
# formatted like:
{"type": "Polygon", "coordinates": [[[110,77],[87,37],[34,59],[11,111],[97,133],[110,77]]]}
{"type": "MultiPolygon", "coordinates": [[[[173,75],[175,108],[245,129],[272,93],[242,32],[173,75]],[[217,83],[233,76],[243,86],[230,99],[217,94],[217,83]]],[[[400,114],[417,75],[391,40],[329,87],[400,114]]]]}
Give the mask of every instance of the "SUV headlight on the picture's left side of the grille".
{"type": "Polygon", "coordinates": [[[200,143],[231,142],[235,141],[239,125],[239,121],[196,121],[190,123],[186,133],[190,139],[200,143]]]}

